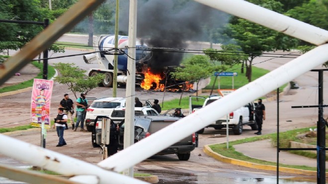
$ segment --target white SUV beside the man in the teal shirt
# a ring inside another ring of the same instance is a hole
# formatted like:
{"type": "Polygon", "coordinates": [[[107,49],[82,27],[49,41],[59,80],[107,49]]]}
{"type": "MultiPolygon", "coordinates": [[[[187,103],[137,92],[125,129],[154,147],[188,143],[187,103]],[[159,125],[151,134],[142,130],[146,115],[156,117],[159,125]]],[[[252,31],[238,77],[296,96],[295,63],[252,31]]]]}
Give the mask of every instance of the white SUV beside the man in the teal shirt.
{"type": "Polygon", "coordinates": [[[91,132],[95,118],[98,115],[109,115],[116,107],[124,107],[126,98],[105,97],[94,100],[86,109],[85,127],[91,132]]]}

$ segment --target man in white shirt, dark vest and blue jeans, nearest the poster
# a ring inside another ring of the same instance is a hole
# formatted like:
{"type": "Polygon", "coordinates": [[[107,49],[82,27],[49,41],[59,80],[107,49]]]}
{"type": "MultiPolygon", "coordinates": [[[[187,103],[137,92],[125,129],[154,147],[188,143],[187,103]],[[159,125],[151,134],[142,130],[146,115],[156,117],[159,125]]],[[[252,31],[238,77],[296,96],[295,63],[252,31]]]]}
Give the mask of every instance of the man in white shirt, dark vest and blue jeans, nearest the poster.
{"type": "Polygon", "coordinates": [[[64,108],[58,108],[58,115],[55,118],[54,128],[56,127],[57,135],[59,137],[56,147],[62,147],[67,145],[64,139],[65,123],[67,123],[67,115],[64,113],[64,108]]]}

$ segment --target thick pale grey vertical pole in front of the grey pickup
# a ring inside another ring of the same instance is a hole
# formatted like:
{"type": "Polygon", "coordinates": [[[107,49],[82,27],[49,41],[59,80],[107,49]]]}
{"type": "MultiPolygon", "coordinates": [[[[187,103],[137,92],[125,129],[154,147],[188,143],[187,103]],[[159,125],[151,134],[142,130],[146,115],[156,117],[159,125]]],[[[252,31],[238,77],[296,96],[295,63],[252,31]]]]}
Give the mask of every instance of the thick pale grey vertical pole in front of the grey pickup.
{"type": "MultiPolygon", "coordinates": [[[[125,110],[125,129],[124,129],[124,149],[134,143],[134,98],[136,85],[136,31],[137,31],[137,0],[130,0],[129,15],[129,49],[128,49],[128,79],[126,85],[126,110],[125,110]],[[133,58],[133,59],[131,59],[133,58]]],[[[124,175],[133,177],[133,166],[125,168],[124,175]]]]}

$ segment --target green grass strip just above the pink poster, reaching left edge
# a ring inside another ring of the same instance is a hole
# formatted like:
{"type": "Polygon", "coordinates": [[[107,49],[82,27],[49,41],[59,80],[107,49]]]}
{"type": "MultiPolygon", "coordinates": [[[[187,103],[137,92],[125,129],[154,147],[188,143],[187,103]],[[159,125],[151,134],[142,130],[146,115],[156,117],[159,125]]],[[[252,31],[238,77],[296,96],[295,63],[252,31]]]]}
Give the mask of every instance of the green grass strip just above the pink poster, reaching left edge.
{"type": "MultiPolygon", "coordinates": [[[[35,79],[42,79],[43,76],[43,63],[42,62],[37,62],[37,61],[33,61],[32,64],[37,67],[38,69],[40,69],[40,73],[35,77],[35,79]]],[[[54,67],[48,65],[48,79],[51,79],[54,75],[55,75],[55,69],[54,67]]],[[[29,81],[24,81],[20,84],[17,85],[12,85],[12,86],[7,86],[7,87],[3,87],[0,88],[0,93],[3,92],[12,92],[12,91],[16,91],[16,90],[21,90],[21,89],[25,89],[25,88],[29,88],[33,86],[33,79],[29,80],[29,81]]]]}

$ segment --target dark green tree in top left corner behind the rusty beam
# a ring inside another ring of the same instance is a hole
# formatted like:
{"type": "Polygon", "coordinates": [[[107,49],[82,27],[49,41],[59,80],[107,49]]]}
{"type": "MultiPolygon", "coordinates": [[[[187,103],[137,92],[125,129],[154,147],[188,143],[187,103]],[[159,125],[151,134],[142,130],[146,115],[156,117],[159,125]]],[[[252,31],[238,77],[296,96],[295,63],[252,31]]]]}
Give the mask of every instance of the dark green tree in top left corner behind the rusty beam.
{"type": "MultiPolygon", "coordinates": [[[[0,19],[26,20],[43,22],[45,18],[50,22],[65,12],[61,9],[50,11],[42,8],[39,0],[0,0],[0,19]]],[[[18,50],[43,30],[42,25],[22,23],[0,24],[0,52],[7,49],[18,50]]],[[[49,50],[64,52],[62,46],[52,46],[49,50]]],[[[0,60],[3,56],[0,56],[0,60]]]]}

